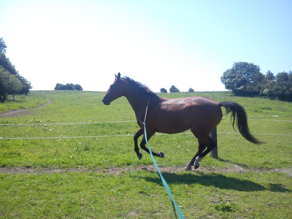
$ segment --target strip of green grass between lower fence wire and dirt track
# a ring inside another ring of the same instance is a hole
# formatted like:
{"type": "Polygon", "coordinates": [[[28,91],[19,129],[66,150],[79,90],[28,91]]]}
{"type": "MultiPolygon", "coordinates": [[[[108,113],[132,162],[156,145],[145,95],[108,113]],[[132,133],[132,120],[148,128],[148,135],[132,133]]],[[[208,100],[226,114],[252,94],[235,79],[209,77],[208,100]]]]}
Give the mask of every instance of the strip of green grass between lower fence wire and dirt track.
{"type": "MultiPolygon", "coordinates": [[[[84,133],[77,134],[84,135],[84,133]]],[[[232,163],[235,163],[242,167],[253,168],[292,166],[289,147],[291,136],[269,135],[264,140],[268,143],[253,145],[241,135],[218,134],[218,154],[221,159],[214,160],[207,156],[201,161],[201,165],[232,167],[234,165],[232,163]],[[277,142],[281,142],[281,145],[277,142]]],[[[192,159],[197,148],[197,141],[191,134],[158,135],[151,138],[149,142],[153,151],[163,151],[166,155],[164,159],[157,159],[159,166],[185,165],[192,159]]],[[[133,136],[1,140],[0,149],[0,166],[8,167],[106,168],[152,164],[150,155],[142,150],[145,156],[138,160],[134,152],[133,136]]]]}

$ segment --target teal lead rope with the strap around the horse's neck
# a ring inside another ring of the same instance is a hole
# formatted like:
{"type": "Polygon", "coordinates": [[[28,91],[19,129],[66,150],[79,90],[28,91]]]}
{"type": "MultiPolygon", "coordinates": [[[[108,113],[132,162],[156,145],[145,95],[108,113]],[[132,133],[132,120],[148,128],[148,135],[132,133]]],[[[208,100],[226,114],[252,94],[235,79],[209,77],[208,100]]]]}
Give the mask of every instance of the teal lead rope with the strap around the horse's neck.
{"type": "MultiPolygon", "coordinates": [[[[180,209],[178,208],[178,205],[175,203],[175,200],[174,200],[174,198],[173,198],[173,196],[171,194],[171,191],[170,191],[170,189],[169,189],[169,187],[168,187],[165,179],[163,178],[163,176],[162,176],[162,174],[161,174],[161,172],[159,170],[159,167],[158,167],[158,165],[157,165],[157,163],[156,163],[156,161],[155,161],[155,159],[153,157],[152,151],[151,151],[150,146],[148,144],[147,133],[146,133],[146,115],[147,115],[149,100],[150,100],[150,96],[149,96],[148,103],[147,103],[147,107],[146,107],[144,122],[142,122],[138,117],[137,117],[137,119],[144,125],[144,136],[145,136],[146,144],[148,146],[148,149],[149,149],[149,152],[150,152],[150,155],[151,155],[151,159],[153,161],[153,164],[156,167],[157,172],[160,175],[161,181],[162,181],[162,183],[163,183],[163,185],[164,185],[164,187],[166,189],[166,192],[168,193],[169,197],[171,198],[171,201],[172,201],[173,205],[175,206],[176,211],[178,212],[178,217],[180,219],[185,219],[184,216],[183,216],[183,214],[181,213],[180,209]]],[[[176,215],[175,215],[175,217],[176,217],[176,215]]]]}

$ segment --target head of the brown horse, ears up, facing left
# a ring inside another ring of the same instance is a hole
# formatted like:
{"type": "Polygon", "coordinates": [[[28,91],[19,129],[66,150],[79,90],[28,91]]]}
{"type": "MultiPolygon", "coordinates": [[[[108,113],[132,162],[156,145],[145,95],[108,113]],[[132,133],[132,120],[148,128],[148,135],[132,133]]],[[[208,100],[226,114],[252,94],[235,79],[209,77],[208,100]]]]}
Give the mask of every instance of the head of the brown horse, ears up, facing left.
{"type": "Polygon", "coordinates": [[[102,102],[105,105],[109,105],[110,102],[122,96],[121,81],[121,74],[119,73],[116,75],[116,79],[112,82],[111,86],[109,86],[107,93],[102,98],[102,102]]]}

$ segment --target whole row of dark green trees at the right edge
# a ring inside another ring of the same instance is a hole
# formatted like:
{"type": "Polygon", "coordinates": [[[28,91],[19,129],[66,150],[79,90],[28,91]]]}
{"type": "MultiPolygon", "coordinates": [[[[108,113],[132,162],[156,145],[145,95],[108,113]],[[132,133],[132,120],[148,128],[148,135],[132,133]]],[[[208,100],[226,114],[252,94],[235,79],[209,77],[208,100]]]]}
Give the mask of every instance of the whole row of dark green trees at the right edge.
{"type": "Polygon", "coordinates": [[[225,89],[239,96],[266,96],[280,100],[292,100],[292,72],[279,72],[274,75],[260,72],[253,63],[234,62],[221,77],[225,89]]]}

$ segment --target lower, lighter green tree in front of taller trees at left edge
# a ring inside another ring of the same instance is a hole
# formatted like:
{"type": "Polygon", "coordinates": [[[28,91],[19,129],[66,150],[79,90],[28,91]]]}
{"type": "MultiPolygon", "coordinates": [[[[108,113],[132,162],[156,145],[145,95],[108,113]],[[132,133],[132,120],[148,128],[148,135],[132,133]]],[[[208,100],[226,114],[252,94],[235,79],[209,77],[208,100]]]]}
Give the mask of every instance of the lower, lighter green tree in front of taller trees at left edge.
{"type": "Polygon", "coordinates": [[[7,95],[13,95],[14,97],[14,94],[19,93],[21,88],[21,81],[0,66],[0,101],[4,102],[7,99],[7,95]]]}

